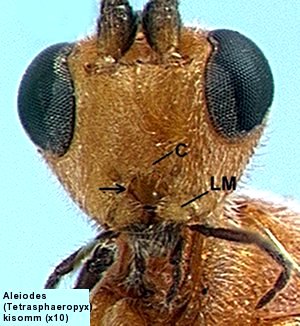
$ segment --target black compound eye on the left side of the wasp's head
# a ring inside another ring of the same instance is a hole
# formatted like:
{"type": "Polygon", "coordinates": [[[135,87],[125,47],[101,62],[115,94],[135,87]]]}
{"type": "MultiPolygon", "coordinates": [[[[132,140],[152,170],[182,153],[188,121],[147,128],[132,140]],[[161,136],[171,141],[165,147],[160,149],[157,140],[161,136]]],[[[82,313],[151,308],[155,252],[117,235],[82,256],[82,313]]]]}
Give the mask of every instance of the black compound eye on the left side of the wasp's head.
{"type": "Polygon", "coordinates": [[[42,51],[27,68],[19,88],[18,112],[31,140],[42,150],[63,155],[75,125],[75,98],[67,57],[72,44],[42,51]]]}

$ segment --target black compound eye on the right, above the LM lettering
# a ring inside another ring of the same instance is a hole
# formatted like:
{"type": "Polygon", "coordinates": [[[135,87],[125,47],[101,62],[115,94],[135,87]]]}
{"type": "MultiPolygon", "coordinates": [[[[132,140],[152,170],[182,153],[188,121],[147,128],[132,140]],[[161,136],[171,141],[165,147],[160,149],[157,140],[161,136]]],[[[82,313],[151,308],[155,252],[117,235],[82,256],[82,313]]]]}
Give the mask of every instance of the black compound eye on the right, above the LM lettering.
{"type": "Polygon", "coordinates": [[[209,33],[213,52],[207,64],[205,95],[211,121],[225,137],[241,136],[260,125],[273,100],[267,59],[238,32],[209,33]]]}

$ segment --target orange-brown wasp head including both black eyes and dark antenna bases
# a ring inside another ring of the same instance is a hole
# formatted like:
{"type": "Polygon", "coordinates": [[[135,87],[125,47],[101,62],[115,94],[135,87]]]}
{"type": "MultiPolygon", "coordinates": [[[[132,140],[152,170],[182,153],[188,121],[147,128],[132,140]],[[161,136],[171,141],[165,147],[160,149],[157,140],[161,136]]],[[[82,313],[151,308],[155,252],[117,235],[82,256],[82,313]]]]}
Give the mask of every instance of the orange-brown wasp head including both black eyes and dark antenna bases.
{"type": "Polygon", "coordinates": [[[266,59],[236,32],[181,26],[176,2],[171,20],[156,2],[140,17],[129,5],[103,7],[97,35],[52,46],[29,67],[19,94],[25,129],[101,225],[219,216],[224,191],[181,205],[212,176],[241,176],[272,100],[266,59]],[[153,165],[179,143],[186,157],[153,165]],[[114,183],[122,196],[98,189],[114,183]]]}

